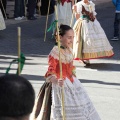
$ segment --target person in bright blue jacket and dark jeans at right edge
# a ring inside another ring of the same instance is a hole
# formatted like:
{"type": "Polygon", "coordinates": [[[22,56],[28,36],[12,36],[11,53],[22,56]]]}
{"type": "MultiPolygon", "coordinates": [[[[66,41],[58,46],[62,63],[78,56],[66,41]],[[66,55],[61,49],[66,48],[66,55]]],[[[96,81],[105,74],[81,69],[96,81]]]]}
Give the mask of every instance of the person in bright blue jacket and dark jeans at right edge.
{"type": "Polygon", "coordinates": [[[115,20],[114,20],[114,36],[111,40],[119,40],[119,24],[120,24],[120,0],[112,0],[116,10],[115,10],[115,20]]]}

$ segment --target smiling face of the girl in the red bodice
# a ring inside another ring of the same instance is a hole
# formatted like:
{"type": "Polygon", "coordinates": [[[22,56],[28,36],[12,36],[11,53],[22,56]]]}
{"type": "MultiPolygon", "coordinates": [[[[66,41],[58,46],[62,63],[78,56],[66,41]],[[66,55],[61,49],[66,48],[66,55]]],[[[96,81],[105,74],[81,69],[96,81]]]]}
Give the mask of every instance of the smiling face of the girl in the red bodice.
{"type": "Polygon", "coordinates": [[[64,47],[71,47],[74,39],[74,32],[72,29],[66,31],[65,35],[60,36],[61,45],[64,47]]]}

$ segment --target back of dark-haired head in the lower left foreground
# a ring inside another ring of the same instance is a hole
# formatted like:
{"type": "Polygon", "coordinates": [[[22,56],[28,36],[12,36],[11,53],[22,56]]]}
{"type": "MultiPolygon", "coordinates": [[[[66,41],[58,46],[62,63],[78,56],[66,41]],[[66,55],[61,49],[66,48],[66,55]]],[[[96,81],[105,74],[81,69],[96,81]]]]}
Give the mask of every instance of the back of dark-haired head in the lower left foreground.
{"type": "Polygon", "coordinates": [[[30,82],[18,75],[0,77],[0,120],[29,120],[35,92],[30,82]]]}

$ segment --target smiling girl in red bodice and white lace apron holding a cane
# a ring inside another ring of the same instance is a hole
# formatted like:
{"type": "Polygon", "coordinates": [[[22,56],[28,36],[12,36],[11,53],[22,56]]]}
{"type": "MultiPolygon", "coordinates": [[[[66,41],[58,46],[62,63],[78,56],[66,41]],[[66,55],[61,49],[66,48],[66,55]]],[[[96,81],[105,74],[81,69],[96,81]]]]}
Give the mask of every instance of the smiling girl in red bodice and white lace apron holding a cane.
{"type": "Polygon", "coordinates": [[[36,120],[62,120],[62,86],[64,86],[66,120],[101,120],[89,99],[86,90],[82,86],[81,82],[76,78],[75,67],[73,66],[73,54],[70,47],[73,43],[73,38],[74,32],[72,28],[67,25],[61,25],[60,54],[63,79],[60,79],[59,49],[58,46],[54,46],[49,54],[49,67],[45,74],[46,81],[49,84],[52,83],[52,90],[47,83],[41,87],[36,101],[36,120]],[[47,87],[46,90],[45,86],[47,87]],[[51,98],[52,102],[48,101],[51,98]],[[41,105],[42,103],[43,105],[41,105]],[[51,110],[48,106],[51,107],[51,110]]]}

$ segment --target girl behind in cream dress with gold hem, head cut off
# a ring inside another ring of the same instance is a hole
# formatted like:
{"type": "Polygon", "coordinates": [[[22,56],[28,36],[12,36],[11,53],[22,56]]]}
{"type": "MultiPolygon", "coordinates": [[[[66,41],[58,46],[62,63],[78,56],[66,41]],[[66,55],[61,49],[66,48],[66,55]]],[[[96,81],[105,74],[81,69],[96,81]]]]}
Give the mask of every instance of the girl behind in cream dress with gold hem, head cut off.
{"type": "Polygon", "coordinates": [[[95,4],[89,0],[82,0],[74,5],[74,10],[77,19],[73,28],[75,32],[73,43],[75,59],[89,64],[90,59],[113,56],[113,47],[95,17],[97,14],[95,4]]]}

